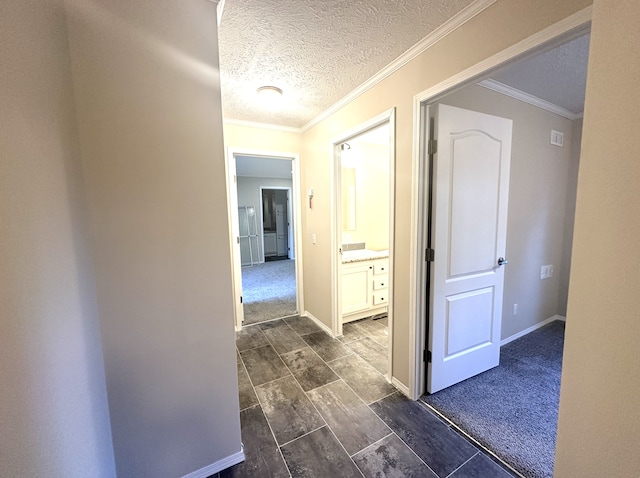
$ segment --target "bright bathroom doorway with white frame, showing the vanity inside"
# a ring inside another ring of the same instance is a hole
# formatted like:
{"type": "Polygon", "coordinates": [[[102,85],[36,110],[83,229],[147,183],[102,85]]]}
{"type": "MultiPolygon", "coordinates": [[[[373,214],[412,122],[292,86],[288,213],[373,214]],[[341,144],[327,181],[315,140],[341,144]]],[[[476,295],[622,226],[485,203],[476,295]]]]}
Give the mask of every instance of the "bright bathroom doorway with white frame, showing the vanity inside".
{"type": "Polygon", "coordinates": [[[332,332],[392,381],[395,111],[332,144],[332,332]]]}

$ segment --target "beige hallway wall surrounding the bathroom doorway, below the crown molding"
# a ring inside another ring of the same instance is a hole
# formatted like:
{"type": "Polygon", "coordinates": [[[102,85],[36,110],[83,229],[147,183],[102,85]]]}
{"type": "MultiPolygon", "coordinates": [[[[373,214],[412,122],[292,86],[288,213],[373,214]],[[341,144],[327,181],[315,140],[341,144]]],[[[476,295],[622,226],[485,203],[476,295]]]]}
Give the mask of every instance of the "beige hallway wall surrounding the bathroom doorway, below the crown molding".
{"type": "Polygon", "coordinates": [[[498,0],[393,75],[303,135],[303,190],[315,189],[303,216],[305,307],[331,324],[331,168],[329,143],[396,108],[396,208],[393,375],[409,381],[409,281],[413,96],[590,5],[589,0],[498,0]],[[488,33],[490,32],[490,33],[488,33]],[[311,244],[316,233],[317,243],[311,244]]]}

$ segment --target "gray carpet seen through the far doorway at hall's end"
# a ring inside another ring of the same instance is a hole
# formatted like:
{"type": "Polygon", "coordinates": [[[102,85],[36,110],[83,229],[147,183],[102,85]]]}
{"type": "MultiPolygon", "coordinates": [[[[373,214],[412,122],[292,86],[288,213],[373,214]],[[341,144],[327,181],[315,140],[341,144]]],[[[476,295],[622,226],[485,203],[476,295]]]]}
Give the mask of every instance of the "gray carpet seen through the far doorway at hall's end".
{"type": "Polygon", "coordinates": [[[242,268],[244,325],[296,314],[295,261],[242,268]]]}

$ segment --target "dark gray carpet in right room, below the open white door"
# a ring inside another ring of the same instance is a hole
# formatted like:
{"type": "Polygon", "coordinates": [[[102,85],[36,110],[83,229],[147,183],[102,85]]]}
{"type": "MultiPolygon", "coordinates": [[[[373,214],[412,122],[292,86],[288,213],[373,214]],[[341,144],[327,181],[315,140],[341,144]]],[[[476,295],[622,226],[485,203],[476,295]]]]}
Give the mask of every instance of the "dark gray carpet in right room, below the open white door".
{"type": "Polygon", "coordinates": [[[422,400],[526,477],[553,476],[564,322],[502,347],[500,365],[422,400]]]}

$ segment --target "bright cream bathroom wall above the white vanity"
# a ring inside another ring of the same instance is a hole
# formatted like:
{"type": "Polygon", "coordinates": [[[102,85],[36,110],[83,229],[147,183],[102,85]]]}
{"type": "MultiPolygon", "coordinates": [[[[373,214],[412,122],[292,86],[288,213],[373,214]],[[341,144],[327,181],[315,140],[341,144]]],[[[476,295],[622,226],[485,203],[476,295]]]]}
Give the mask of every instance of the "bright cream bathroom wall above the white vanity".
{"type": "MultiPolygon", "coordinates": [[[[364,242],[367,249],[388,249],[389,146],[360,142],[350,144],[349,161],[353,161],[356,169],[356,228],[342,232],[342,243],[364,242]]],[[[348,213],[344,191],[342,201],[344,218],[348,213]]]]}

